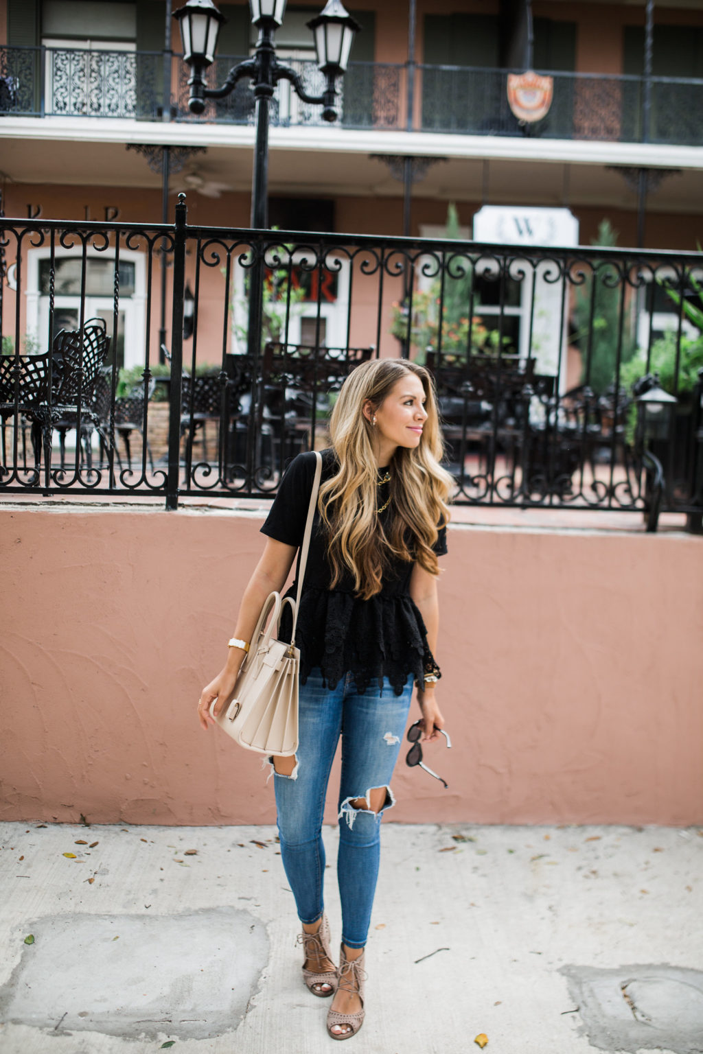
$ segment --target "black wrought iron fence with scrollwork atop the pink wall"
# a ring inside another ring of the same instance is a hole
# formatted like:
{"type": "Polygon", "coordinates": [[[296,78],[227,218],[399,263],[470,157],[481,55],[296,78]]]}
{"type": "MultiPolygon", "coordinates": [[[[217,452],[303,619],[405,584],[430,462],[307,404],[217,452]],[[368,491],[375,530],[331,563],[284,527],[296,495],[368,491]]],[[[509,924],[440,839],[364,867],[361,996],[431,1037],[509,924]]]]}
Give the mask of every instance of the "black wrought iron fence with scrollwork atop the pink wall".
{"type": "Polygon", "coordinates": [[[5,492],[270,495],[329,441],[348,372],[405,355],[434,377],[456,502],[700,524],[700,254],[190,227],[184,200],[173,226],[0,231],[5,492]]]}

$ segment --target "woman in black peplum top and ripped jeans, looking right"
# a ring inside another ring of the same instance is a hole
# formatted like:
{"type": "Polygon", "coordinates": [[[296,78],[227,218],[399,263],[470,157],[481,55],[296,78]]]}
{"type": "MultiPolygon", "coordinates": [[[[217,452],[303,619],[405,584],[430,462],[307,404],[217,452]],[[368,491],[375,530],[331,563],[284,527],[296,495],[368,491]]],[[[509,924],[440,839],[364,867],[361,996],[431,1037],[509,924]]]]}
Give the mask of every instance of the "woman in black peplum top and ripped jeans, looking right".
{"type": "MultiPolygon", "coordinates": [[[[430,375],[413,363],[377,359],[354,369],[332,412],[330,436],[296,632],[299,748],[295,757],[271,762],[280,853],[302,923],[304,979],[313,995],[334,994],[328,1032],[347,1039],[364,1019],[364,946],[378,873],[379,822],[394,802],[390,780],[413,684],[424,739],[436,739],[444,725],[433,659],[436,558],[446,552],[452,479],[440,466],[442,435],[430,375]],[[339,736],[343,936],[335,969],[323,905],[320,831],[339,736]]],[[[295,457],[261,527],[268,541],[245,590],[236,643],[200,696],[203,728],[212,721],[211,705],[218,713],[234,687],[263,601],[288,578],[302,540],[314,469],[314,453],[295,457]]],[[[294,592],[295,586],[289,596],[294,592]]],[[[290,630],[290,619],[282,628],[290,630]]]]}

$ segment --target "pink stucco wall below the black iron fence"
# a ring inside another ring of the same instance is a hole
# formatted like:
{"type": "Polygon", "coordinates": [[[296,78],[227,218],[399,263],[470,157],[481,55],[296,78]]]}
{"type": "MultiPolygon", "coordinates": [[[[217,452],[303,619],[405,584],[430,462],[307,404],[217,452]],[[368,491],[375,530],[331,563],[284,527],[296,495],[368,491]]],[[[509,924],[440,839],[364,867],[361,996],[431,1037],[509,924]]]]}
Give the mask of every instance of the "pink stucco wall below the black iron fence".
{"type": "MultiPolygon", "coordinates": [[[[0,818],[274,819],[258,756],[195,720],[261,516],[0,506],[0,818]]],[[[454,526],[441,582],[444,790],[390,820],[703,822],[703,545],[454,526]]],[[[333,813],[329,814],[333,818],[333,813]]]]}

